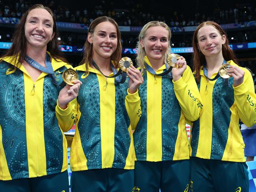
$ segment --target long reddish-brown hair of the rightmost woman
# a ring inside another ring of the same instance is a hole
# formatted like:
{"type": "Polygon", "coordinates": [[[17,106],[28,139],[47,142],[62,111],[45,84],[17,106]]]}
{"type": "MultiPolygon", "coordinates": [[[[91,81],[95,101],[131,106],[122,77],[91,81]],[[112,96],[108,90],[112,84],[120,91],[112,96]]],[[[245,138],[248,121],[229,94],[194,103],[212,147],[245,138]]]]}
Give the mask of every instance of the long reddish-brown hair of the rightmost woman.
{"type": "Polygon", "coordinates": [[[200,28],[207,26],[207,25],[213,26],[216,30],[219,31],[221,36],[222,35],[226,36],[226,42],[222,46],[222,55],[226,61],[232,60],[232,61],[234,61],[234,63],[236,63],[238,65],[238,62],[237,62],[234,52],[228,46],[228,38],[227,38],[226,32],[221,28],[221,26],[219,26],[219,24],[217,24],[213,21],[202,22],[200,25],[197,26],[197,28],[194,32],[194,35],[193,35],[193,50],[194,50],[193,70],[195,71],[195,76],[196,76],[197,81],[199,81],[199,78],[200,78],[200,68],[205,62],[204,54],[202,54],[202,52],[200,52],[198,49],[197,33],[198,33],[198,30],[200,30],[200,28]]]}

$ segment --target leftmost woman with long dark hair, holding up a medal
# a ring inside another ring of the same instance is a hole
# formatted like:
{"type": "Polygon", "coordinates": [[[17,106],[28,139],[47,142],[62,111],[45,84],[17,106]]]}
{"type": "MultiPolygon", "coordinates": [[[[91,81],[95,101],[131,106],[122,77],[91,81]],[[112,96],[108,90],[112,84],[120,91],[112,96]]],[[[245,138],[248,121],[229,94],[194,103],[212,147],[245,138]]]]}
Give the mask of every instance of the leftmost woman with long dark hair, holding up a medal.
{"type": "Polygon", "coordinates": [[[52,11],[33,5],[0,60],[2,191],[69,190],[67,141],[61,129],[69,129],[76,120],[81,82],[61,85],[62,72],[71,66],[59,51],[57,38],[52,11]]]}

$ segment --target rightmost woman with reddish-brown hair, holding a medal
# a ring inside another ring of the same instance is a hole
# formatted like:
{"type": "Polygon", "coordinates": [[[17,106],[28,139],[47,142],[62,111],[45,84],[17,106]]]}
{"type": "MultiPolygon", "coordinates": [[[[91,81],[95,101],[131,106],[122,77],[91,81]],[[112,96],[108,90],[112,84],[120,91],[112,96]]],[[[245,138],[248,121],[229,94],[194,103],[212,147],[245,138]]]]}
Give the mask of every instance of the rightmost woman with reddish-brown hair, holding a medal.
{"type": "Polygon", "coordinates": [[[215,22],[197,27],[193,49],[204,109],[191,130],[191,191],[248,191],[239,118],[247,126],[256,122],[252,76],[238,66],[226,33],[215,22]]]}

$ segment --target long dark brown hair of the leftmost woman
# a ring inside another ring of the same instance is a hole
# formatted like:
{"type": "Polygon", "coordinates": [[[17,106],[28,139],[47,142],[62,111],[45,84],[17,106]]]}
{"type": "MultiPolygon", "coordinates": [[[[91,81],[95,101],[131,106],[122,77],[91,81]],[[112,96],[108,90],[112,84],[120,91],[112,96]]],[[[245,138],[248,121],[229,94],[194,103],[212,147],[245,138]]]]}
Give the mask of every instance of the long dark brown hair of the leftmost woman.
{"type": "Polygon", "coordinates": [[[59,34],[57,31],[56,19],[55,19],[54,13],[50,8],[44,7],[42,4],[35,4],[31,6],[21,17],[20,23],[17,25],[13,33],[13,44],[6,54],[2,55],[2,58],[7,56],[14,56],[13,61],[15,61],[15,66],[17,68],[20,68],[20,66],[22,65],[22,62],[24,61],[24,58],[26,55],[26,48],[27,48],[27,40],[25,37],[25,23],[26,23],[28,13],[33,9],[45,9],[52,16],[52,19],[53,19],[52,31],[53,33],[55,33],[55,35],[52,38],[52,41],[48,42],[46,50],[50,52],[51,56],[55,60],[60,59],[61,61],[68,63],[67,60],[63,57],[62,52],[59,50],[59,41],[58,41],[59,34]],[[17,56],[19,56],[18,61],[17,61],[17,56]]]}

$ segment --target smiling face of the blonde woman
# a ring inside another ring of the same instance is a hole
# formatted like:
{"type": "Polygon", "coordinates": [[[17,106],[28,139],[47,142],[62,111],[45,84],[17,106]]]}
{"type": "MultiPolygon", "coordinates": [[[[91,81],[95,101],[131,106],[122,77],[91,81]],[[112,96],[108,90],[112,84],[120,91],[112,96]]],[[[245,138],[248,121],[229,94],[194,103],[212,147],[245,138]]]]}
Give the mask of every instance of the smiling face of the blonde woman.
{"type": "Polygon", "coordinates": [[[162,26],[153,26],[147,29],[145,37],[140,39],[140,44],[145,48],[145,53],[150,63],[164,63],[165,53],[169,41],[169,32],[162,26]]]}

